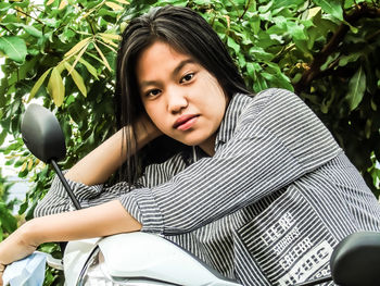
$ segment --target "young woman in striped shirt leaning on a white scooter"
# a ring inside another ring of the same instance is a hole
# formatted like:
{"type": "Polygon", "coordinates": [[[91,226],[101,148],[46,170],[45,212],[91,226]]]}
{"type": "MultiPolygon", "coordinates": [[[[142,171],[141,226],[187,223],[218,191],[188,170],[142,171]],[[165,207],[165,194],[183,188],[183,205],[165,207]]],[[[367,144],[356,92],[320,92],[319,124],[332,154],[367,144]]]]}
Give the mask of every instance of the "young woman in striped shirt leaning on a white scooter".
{"type": "Polygon", "coordinates": [[[117,59],[121,128],[66,173],[0,244],[2,268],[46,241],[150,232],[243,285],[329,272],[380,207],[330,133],[290,91],[250,96],[210,25],[186,8],[135,18],[117,59]],[[159,156],[157,156],[159,153],[159,156]],[[140,160],[139,160],[140,159],[140,160]],[[102,184],[126,162],[128,182],[102,184]]]}

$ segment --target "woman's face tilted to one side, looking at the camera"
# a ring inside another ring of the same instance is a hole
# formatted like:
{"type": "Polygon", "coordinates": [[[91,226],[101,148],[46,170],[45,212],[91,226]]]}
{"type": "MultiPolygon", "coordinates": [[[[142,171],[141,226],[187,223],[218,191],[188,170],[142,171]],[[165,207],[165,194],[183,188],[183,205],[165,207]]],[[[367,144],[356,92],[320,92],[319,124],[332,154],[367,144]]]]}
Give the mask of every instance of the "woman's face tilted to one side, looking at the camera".
{"type": "Polygon", "coordinates": [[[213,154],[228,104],[217,79],[191,57],[162,41],[140,54],[136,72],[142,103],[157,128],[213,154]]]}

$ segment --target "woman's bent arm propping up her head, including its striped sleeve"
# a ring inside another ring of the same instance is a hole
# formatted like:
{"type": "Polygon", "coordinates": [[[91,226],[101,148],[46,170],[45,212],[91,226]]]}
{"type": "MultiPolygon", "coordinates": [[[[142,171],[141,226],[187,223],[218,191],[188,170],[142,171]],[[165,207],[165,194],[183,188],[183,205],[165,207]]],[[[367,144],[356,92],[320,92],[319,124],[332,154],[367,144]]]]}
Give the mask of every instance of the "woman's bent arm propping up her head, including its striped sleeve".
{"type": "MultiPolygon", "coordinates": [[[[125,186],[118,184],[118,186],[106,189],[101,185],[127,159],[126,150],[122,149],[125,140],[123,132],[123,129],[118,130],[65,174],[68,185],[84,208],[115,199],[124,194],[125,189],[128,189],[126,184],[125,186]]],[[[161,135],[145,115],[136,124],[136,133],[137,149],[161,135]]],[[[43,216],[66,212],[71,210],[71,204],[66,190],[55,176],[50,190],[37,204],[34,215],[43,216]]]]}

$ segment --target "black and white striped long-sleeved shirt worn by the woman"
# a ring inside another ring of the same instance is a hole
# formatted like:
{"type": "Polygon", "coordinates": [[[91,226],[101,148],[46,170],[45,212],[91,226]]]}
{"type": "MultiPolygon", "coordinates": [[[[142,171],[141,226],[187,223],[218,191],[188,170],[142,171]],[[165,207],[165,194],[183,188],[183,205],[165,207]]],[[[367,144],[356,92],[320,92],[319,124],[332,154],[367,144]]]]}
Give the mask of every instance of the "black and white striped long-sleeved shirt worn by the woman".
{"type": "MultiPolygon", "coordinates": [[[[142,224],[242,285],[329,274],[333,247],[380,231],[380,206],[331,134],[294,94],[235,95],[213,157],[147,166],[139,188],[69,182],[85,207],[118,199],[142,224]]],[[[69,210],[59,179],[35,215],[69,210]]]]}

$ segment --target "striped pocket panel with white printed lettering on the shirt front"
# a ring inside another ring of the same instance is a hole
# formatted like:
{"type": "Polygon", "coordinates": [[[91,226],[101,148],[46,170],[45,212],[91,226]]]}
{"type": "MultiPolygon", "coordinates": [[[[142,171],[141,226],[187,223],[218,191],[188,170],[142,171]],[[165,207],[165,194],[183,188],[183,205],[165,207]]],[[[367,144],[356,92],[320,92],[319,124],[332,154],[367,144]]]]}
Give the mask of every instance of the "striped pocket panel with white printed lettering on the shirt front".
{"type": "Polygon", "coordinates": [[[337,239],[296,189],[280,196],[240,236],[271,285],[287,286],[329,274],[337,239]]]}

